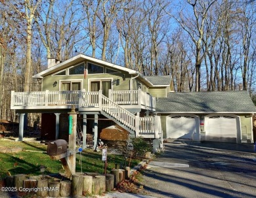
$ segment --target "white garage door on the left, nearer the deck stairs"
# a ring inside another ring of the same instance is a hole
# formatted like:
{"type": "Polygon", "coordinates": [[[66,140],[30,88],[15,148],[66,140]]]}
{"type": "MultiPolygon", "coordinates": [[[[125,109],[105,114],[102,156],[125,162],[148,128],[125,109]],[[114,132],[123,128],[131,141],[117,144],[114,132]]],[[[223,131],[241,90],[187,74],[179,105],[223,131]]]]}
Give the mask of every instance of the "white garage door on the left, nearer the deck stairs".
{"type": "Polygon", "coordinates": [[[169,116],[167,117],[167,138],[192,139],[196,132],[196,117],[194,116],[169,116]]]}

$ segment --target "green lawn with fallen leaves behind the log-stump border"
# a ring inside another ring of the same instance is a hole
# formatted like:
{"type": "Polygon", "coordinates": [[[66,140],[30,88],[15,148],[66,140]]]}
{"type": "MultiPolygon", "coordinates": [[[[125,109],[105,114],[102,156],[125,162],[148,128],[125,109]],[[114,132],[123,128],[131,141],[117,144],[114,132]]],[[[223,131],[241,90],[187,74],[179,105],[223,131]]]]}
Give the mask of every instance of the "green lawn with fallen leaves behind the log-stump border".
{"type": "MultiPolygon", "coordinates": [[[[4,178],[8,173],[14,174],[28,174],[28,175],[39,175],[39,167],[44,165],[47,167],[45,174],[50,173],[64,173],[62,164],[59,160],[52,160],[46,153],[47,146],[39,144],[37,142],[15,142],[13,140],[0,139],[0,146],[22,148],[22,152],[18,153],[1,153],[0,152],[0,177],[4,178]],[[30,150],[30,151],[28,151],[30,150]],[[32,152],[37,151],[37,152],[32,152]]],[[[93,172],[93,173],[104,173],[104,162],[102,159],[101,152],[93,152],[91,149],[87,149],[76,154],[76,172],[93,172]],[[81,157],[81,165],[79,164],[81,157]]],[[[124,156],[117,156],[108,154],[108,167],[107,173],[110,173],[111,169],[115,168],[115,164],[125,163],[124,156]]],[[[131,167],[139,163],[138,159],[131,161],[131,167]]],[[[127,161],[127,164],[129,162],[127,161]]]]}

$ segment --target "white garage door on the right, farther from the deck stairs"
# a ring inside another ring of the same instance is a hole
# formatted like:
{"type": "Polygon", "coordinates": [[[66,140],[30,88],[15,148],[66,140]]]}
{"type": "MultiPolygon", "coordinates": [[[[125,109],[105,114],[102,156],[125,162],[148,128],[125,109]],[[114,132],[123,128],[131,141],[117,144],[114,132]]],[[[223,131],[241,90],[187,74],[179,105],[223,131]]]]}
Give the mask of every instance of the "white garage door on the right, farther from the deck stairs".
{"type": "Polygon", "coordinates": [[[235,116],[205,117],[205,140],[236,142],[237,129],[235,116]]]}

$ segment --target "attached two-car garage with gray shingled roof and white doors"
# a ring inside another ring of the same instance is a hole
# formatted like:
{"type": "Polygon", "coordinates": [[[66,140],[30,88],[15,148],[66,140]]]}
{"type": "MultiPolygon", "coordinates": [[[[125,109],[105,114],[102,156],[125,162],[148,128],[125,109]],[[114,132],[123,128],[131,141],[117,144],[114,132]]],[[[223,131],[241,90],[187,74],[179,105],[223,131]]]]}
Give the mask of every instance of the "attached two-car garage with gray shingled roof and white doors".
{"type": "Polygon", "coordinates": [[[255,112],[247,91],[173,92],[156,101],[163,137],[173,139],[252,143],[255,112]]]}

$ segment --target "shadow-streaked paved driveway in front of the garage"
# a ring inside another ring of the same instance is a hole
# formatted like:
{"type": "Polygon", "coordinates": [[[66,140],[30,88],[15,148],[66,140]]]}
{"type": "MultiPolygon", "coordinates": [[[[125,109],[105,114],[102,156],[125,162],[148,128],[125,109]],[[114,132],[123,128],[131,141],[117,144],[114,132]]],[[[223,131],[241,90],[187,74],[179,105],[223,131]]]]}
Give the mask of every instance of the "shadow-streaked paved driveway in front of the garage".
{"type": "Polygon", "coordinates": [[[252,145],[172,141],[142,175],[153,197],[256,197],[252,145]]]}

